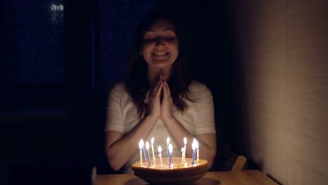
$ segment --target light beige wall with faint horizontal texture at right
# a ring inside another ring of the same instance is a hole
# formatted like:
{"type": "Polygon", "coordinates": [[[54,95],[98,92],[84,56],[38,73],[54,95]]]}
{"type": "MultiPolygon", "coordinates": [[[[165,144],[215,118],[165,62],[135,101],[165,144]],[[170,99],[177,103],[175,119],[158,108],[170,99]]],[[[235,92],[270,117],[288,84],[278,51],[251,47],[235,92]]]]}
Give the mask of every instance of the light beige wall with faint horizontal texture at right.
{"type": "Polygon", "coordinates": [[[240,149],[281,184],[327,183],[328,1],[232,8],[240,149]]]}

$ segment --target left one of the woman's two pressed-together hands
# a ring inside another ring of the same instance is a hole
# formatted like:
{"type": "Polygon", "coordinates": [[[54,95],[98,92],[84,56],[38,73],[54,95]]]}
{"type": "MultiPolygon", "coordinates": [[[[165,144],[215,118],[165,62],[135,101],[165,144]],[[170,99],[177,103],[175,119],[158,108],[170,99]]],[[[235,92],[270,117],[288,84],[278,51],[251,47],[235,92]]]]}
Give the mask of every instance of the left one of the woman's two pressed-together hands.
{"type": "Polygon", "coordinates": [[[160,118],[160,92],[163,90],[163,76],[160,74],[157,82],[149,92],[149,116],[158,120],[160,118]]]}

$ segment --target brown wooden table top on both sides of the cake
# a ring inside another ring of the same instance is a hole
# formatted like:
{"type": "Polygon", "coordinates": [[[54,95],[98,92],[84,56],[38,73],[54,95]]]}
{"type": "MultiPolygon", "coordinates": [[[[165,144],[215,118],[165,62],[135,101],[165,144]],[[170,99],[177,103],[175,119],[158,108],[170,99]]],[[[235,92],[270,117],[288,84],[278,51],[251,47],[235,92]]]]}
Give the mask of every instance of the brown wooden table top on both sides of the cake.
{"type": "MultiPolygon", "coordinates": [[[[125,185],[144,185],[148,184],[133,174],[98,174],[97,185],[125,184],[125,185]]],[[[259,170],[242,170],[233,172],[208,172],[205,176],[195,183],[196,185],[277,185],[275,181],[268,178],[259,170]]]]}

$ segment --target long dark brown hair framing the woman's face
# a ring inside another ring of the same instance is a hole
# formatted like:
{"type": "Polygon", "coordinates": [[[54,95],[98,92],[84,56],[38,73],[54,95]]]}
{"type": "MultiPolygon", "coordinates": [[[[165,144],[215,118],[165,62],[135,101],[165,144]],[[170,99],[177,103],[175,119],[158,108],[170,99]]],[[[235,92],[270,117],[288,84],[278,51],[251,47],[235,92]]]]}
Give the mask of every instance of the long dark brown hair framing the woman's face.
{"type": "Polygon", "coordinates": [[[184,35],[181,33],[181,29],[178,27],[178,22],[174,16],[164,12],[152,12],[146,15],[140,22],[139,27],[137,27],[128,55],[127,76],[125,78],[125,88],[138,108],[139,118],[142,118],[142,116],[149,112],[148,105],[144,103],[144,100],[150,88],[149,80],[146,76],[146,61],[140,55],[140,50],[144,42],[144,34],[159,18],[163,18],[172,24],[179,41],[179,55],[177,60],[172,64],[171,76],[168,80],[173,104],[175,104],[177,110],[183,112],[185,109],[188,109],[186,100],[191,101],[188,97],[188,86],[191,83],[191,77],[189,76],[187,66],[184,35]]]}

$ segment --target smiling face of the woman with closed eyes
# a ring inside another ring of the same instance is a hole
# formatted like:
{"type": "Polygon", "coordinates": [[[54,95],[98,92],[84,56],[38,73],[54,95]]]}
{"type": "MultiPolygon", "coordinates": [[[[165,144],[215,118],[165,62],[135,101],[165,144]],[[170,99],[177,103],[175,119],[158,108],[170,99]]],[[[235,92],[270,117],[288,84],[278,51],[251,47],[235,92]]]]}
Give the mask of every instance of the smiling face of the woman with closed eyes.
{"type": "Polygon", "coordinates": [[[179,41],[174,27],[165,19],[158,19],[144,34],[141,53],[151,69],[169,68],[177,60],[179,41]]]}

